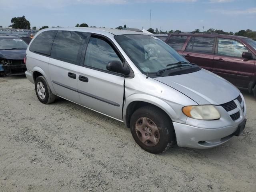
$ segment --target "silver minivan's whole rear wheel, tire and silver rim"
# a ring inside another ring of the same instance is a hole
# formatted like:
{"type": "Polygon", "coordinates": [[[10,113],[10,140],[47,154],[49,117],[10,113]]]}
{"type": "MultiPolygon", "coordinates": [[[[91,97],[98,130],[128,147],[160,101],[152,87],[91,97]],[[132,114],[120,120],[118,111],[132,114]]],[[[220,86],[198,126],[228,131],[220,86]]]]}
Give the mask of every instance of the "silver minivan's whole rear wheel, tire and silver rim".
{"type": "Polygon", "coordinates": [[[50,86],[44,76],[36,78],[35,82],[36,96],[43,104],[50,104],[57,98],[50,90],[50,86]]]}

